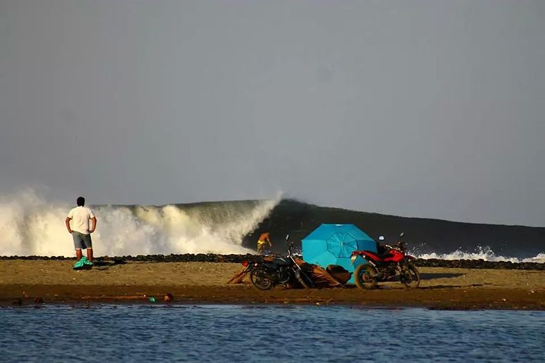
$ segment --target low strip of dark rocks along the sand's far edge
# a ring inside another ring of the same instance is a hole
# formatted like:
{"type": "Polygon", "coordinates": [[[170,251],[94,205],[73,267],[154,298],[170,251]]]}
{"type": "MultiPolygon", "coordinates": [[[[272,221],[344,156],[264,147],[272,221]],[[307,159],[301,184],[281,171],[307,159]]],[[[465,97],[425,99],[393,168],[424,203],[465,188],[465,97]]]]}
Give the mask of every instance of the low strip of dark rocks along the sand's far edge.
{"type": "MultiPolygon", "coordinates": [[[[112,264],[124,264],[125,262],[229,262],[242,263],[243,261],[259,261],[260,255],[220,255],[216,253],[184,253],[170,255],[137,255],[95,258],[97,262],[109,261],[112,264]]],[[[0,260],[76,260],[64,256],[0,256],[0,260]]],[[[545,263],[538,262],[510,262],[510,261],[485,261],[485,260],[439,260],[417,258],[414,262],[418,267],[444,267],[459,269],[504,269],[504,270],[535,270],[545,271],[545,263]]]]}

